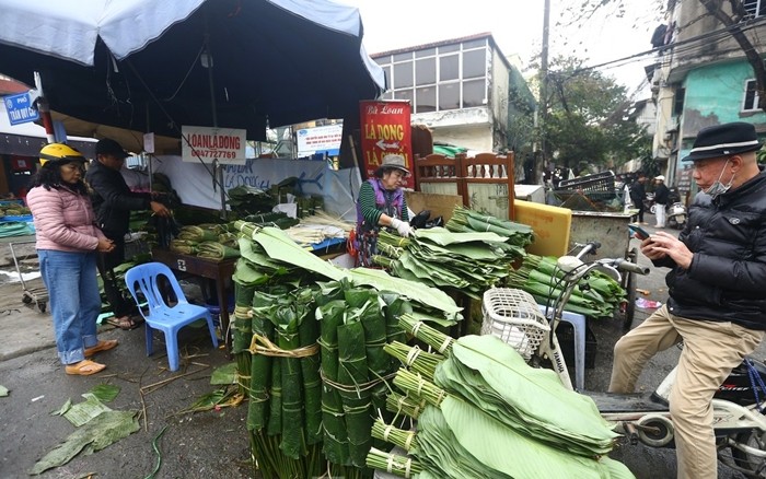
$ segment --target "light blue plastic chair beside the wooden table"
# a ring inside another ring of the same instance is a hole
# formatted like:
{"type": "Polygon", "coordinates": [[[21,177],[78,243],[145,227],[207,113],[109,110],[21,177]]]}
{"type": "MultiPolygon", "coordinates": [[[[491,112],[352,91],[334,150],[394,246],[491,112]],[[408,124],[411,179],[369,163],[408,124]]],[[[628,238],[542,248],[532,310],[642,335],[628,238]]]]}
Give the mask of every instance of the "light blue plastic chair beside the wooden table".
{"type": "Polygon", "coordinates": [[[162,262],[146,262],[135,266],[125,273],[125,282],[136,304],[139,305],[138,308],[141,312],[141,316],[146,319],[147,355],[152,354],[152,330],[159,329],[165,335],[167,361],[171,371],[177,371],[178,330],[197,319],[207,320],[212,344],[218,348],[218,337],[216,336],[216,328],[212,324],[210,312],[206,307],[189,304],[189,302],[186,301],[186,296],[178,281],[167,266],[162,262]],[[159,284],[162,277],[167,280],[173,289],[173,294],[175,294],[177,299],[177,303],[174,306],[169,306],[165,303],[159,284]],[[141,307],[139,292],[142,293],[143,299],[146,299],[146,312],[144,307],[141,307]]]}

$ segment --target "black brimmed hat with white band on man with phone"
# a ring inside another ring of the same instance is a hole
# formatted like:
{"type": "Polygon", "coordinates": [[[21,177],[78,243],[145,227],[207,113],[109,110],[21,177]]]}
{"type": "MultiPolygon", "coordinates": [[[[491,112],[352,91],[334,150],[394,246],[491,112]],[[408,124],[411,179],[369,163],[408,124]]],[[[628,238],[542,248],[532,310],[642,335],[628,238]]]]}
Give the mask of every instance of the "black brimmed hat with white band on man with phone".
{"type": "Polygon", "coordinates": [[[684,162],[729,156],[748,151],[761,150],[755,127],[744,121],[716,125],[699,130],[694,147],[684,162]]]}

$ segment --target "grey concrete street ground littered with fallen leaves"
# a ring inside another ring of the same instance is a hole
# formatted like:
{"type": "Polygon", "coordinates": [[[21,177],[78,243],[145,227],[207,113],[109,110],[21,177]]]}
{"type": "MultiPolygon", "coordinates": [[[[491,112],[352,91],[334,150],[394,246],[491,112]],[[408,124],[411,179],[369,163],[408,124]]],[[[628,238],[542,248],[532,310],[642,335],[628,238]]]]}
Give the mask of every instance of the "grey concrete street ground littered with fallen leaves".
{"type": "MultiPolygon", "coordinates": [[[[648,215],[648,221],[651,223],[651,215],[648,215]]],[[[635,240],[631,242],[636,243],[635,240]]],[[[0,245],[0,272],[14,272],[5,249],[0,245]]],[[[34,270],[34,260],[30,262],[30,269],[34,270]]],[[[639,262],[650,266],[643,257],[639,262]]],[[[664,273],[652,268],[649,276],[639,277],[638,288],[648,293],[645,299],[665,301],[664,273]]],[[[156,339],[154,355],[147,358],[143,327],[132,331],[105,327],[101,337],[120,342],[116,349],[98,355],[107,369],[88,377],[68,376],[56,358],[50,316],[24,305],[21,284],[5,278],[0,274],[0,385],[10,394],[0,397],[0,477],[27,477],[26,471],[35,462],[74,430],[67,420],[50,416],[50,412],[61,408],[67,399],[80,401],[82,394],[103,383],[121,388],[115,401],[108,405],[111,408],[141,411],[140,431],[92,455],[81,454],[42,477],[148,477],[159,462],[152,441],[164,428],[167,429],[158,441],[161,466],[154,477],[254,477],[246,466],[249,457],[244,422],[246,406],[179,413],[216,388],[209,384],[210,374],[214,367],[229,362],[225,352],[213,349],[209,338],[199,331],[185,336],[182,339],[185,344],[182,369],[171,373],[166,369],[164,349],[156,339]]],[[[39,285],[39,279],[30,284],[39,285]]],[[[650,313],[651,309],[637,308],[634,326],[650,313]]],[[[595,367],[585,371],[585,388],[603,392],[608,384],[612,348],[623,334],[623,323],[619,318],[591,322],[591,328],[597,347],[595,367]]],[[[766,358],[765,352],[762,344],[756,357],[766,358]]],[[[639,379],[639,388],[653,389],[675,365],[677,357],[675,348],[659,354],[639,379]]],[[[612,456],[625,463],[639,479],[675,477],[672,449],[625,444],[612,456]]],[[[740,476],[726,466],[719,466],[718,477],[732,479],[740,476]]]]}

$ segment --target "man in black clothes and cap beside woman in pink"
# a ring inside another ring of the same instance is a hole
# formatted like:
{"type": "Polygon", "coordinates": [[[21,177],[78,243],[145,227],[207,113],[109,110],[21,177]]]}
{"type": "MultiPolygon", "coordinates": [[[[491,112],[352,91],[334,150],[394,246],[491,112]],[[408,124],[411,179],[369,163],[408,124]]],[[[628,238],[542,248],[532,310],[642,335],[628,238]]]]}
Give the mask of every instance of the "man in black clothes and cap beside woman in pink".
{"type": "Polygon", "coordinates": [[[125,235],[129,230],[131,210],[152,210],[160,217],[169,217],[170,210],[150,194],[132,192],[119,172],[125,159],[130,156],[116,141],[104,138],[96,143],[96,159],[88,168],[85,182],[90,185],[91,202],[98,227],[114,242],[115,248],[98,259],[98,272],[104,282],[104,293],[114,312],[111,324],[121,329],[132,329],[139,319],[132,301],[126,300],[117,285],[113,268],[125,262],[125,235]]]}

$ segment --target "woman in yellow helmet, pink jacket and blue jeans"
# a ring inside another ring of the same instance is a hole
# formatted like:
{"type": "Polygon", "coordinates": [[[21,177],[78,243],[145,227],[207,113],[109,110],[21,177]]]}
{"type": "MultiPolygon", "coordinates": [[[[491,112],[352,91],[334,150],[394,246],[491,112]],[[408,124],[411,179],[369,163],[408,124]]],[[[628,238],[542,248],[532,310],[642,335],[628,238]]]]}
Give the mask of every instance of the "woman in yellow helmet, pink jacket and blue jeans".
{"type": "Polygon", "coordinates": [[[43,167],[32,179],[26,202],[34,215],[56,348],[67,374],[88,376],[106,367],[88,358],[117,346],[116,340],[100,341],[96,335],[101,311],[96,252],[109,252],[114,245],[95,226],[80,152],[51,143],[39,156],[43,167]]]}

